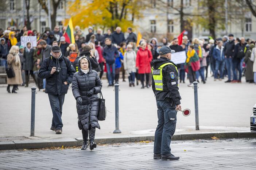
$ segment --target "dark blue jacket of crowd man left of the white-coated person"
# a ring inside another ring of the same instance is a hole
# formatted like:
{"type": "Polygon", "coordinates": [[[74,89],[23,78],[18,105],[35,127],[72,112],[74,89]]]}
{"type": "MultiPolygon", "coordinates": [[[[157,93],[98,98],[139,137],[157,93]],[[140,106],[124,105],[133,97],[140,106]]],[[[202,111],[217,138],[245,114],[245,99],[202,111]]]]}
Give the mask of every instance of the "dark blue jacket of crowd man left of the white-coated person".
{"type": "Polygon", "coordinates": [[[114,45],[105,45],[103,49],[103,57],[106,60],[106,63],[113,64],[116,61],[116,58],[119,57],[117,48],[114,45]]]}

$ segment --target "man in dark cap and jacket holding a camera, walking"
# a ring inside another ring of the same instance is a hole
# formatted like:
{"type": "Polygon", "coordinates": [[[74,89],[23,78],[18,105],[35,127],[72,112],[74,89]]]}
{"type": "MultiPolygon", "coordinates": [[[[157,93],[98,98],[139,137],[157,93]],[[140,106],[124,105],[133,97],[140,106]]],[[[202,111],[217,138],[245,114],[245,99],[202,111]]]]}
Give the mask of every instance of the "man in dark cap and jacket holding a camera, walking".
{"type": "Polygon", "coordinates": [[[67,57],[63,57],[59,46],[51,48],[50,57],[43,60],[38,73],[40,78],[46,78],[45,93],[48,94],[53,112],[50,129],[56,134],[62,133],[62,106],[74,73],[73,65],[67,57]]]}

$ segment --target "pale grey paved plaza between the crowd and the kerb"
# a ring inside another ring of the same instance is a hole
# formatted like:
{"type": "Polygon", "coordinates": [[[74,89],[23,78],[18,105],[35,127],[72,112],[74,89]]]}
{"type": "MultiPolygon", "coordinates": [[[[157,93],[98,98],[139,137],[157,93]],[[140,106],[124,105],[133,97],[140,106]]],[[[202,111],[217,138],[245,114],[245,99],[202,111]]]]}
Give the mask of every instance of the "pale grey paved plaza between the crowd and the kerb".
{"type": "MultiPolygon", "coordinates": [[[[127,80],[128,81],[128,80],[127,80]]],[[[226,84],[224,81],[213,81],[210,77],[206,84],[199,83],[199,126],[200,131],[233,131],[250,130],[250,115],[256,102],[256,86],[245,83],[226,84]]],[[[152,89],[131,88],[128,82],[120,82],[119,114],[121,134],[115,130],[115,92],[102,80],[102,93],[106,99],[106,121],[101,121],[101,130],[96,130],[97,137],[122,135],[154,134],[157,125],[157,109],[152,89]]],[[[0,137],[29,137],[31,116],[31,89],[19,87],[18,94],[8,94],[5,86],[0,87],[0,137]]],[[[175,134],[195,130],[194,92],[187,84],[180,84],[182,108],[190,108],[189,117],[178,113],[175,134]]],[[[75,99],[71,88],[63,105],[63,133],[56,135],[50,130],[52,112],[48,95],[39,91],[36,94],[35,136],[38,138],[77,138],[82,137],[77,126],[75,99]]]]}

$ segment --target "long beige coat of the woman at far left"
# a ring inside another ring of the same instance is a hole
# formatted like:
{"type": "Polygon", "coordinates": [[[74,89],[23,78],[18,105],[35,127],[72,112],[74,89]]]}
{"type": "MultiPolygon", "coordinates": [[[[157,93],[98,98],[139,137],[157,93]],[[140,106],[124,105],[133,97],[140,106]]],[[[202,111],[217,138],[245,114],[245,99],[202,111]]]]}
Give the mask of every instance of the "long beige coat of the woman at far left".
{"type": "Polygon", "coordinates": [[[9,53],[7,56],[7,63],[12,66],[12,69],[15,73],[15,77],[13,78],[8,78],[7,77],[7,84],[8,85],[20,85],[23,83],[22,81],[22,74],[21,74],[21,64],[20,62],[16,65],[15,64],[15,56],[13,54],[9,53]]]}

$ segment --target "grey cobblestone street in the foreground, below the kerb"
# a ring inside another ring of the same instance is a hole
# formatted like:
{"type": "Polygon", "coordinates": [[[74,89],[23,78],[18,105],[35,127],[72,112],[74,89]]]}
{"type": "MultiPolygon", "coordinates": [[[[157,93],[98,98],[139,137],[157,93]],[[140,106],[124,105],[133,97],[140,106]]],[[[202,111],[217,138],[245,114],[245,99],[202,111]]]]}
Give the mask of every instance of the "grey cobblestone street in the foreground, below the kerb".
{"type": "Polygon", "coordinates": [[[178,161],[153,159],[154,143],[98,146],[95,150],[6,150],[0,169],[255,169],[256,139],[175,141],[178,161]]]}

